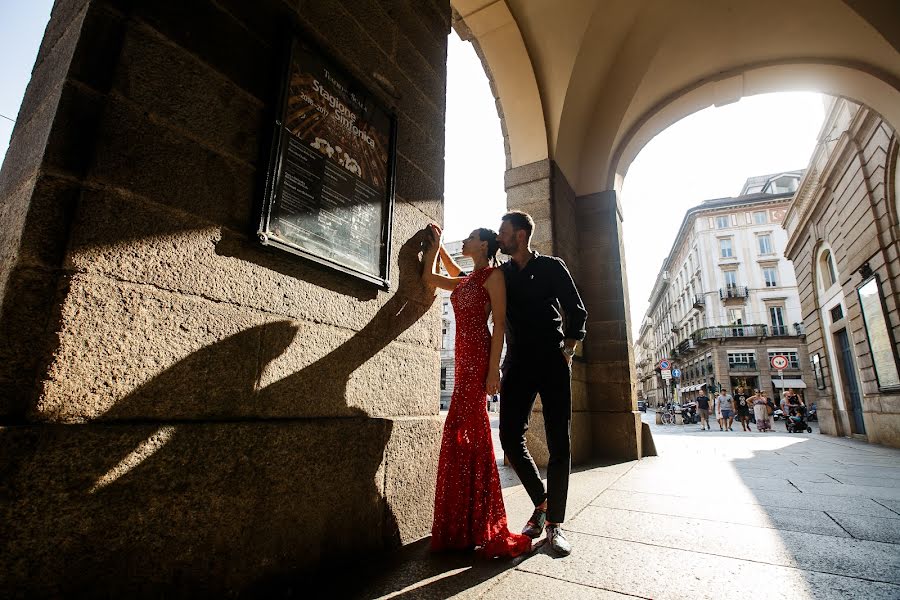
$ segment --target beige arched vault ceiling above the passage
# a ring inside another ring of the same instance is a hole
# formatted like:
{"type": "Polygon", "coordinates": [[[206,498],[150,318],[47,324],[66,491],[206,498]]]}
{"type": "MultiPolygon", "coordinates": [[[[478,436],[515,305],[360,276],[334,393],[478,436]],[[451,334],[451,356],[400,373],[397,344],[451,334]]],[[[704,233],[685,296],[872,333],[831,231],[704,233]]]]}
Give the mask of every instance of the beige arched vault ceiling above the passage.
{"type": "Polygon", "coordinates": [[[891,3],[451,3],[481,47],[512,165],[552,158],[579,195],[618,187],[640,148],[678,119],[752,94],[843,95],[900,128],[900,9],[885,9],[891,3]]]}

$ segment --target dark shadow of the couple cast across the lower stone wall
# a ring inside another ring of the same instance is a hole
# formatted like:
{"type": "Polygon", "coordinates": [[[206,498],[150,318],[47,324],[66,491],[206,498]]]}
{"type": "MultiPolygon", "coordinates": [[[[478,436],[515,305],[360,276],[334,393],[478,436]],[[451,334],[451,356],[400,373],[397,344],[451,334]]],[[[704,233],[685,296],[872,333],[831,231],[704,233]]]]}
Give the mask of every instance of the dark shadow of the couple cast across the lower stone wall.
{"type": "Polygon", "coordinates": [[[392,422],[347,407],[345,392],[353,371],[430,307],[419,278],[422,236],[400,248],[397,291],[363,330],[265,388],[252,374],[208,366],[264,352],[261,371],[294,341],[291,322],[187,356],[102,423],[0,429],[0,587],[26,595],[220,594],[398,545],[384,496],[392,422]],[[321,414],[346,417],[231,416],[240,412],[234,398],[249,398],[264,414],[267,404],[313,396],[321,414]],[[185,407],[208,416],[187,420],[185,407]]]}

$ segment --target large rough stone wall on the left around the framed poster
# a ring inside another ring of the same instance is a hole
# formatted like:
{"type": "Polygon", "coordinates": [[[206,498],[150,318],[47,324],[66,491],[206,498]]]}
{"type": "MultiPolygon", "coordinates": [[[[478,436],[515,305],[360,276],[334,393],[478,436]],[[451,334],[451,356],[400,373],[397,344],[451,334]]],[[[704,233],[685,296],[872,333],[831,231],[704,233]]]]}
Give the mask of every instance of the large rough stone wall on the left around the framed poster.
{"type": "Polygon", "coordinates": [[[449,27],[445,0],[57,2],[0,173],[4,587],[218,595],[428,533],[449,27]],[[387,292],[254,239],[294,30],[397,112],[387,292]]]}

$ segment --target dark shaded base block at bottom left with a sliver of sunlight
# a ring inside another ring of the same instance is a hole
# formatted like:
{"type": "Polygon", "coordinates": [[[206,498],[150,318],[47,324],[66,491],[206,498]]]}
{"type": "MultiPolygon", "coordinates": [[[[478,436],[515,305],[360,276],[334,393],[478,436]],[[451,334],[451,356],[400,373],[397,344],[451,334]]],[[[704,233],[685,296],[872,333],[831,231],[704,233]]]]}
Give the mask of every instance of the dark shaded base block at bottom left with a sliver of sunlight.
{"type": "Polygon", "coordinates": [[[4,428],[5,585],[35,596],[222,596],[377,551],[398,526],[383,488],[392,425],[4,428]]]}

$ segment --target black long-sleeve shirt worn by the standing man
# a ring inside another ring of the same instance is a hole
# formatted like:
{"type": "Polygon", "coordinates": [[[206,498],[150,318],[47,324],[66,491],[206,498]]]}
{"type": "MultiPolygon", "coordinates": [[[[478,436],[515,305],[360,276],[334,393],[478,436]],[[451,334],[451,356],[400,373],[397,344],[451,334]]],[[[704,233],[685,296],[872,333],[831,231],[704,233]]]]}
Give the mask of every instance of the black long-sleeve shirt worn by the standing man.
{"type": "Polygon", "coordinates": [[[525,268],[512,260],[500,268],[506,278],[507,360],[561,348],[566,338],[584,339],[587,311],[562,259],[532,252],[525,268]]]}

